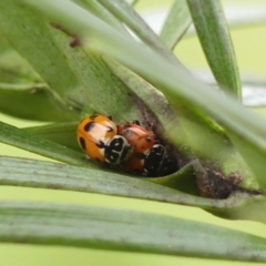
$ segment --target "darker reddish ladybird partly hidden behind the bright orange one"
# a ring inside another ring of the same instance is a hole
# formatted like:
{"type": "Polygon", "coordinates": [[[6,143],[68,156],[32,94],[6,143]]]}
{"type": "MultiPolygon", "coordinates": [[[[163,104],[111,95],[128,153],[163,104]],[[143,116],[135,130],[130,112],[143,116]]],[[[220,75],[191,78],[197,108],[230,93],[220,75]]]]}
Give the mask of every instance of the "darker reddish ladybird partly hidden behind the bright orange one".
{"type": "Polygon", "coordinates": [[[152,131],[134,121],[117,125],[117,133],[126,139],[133,150],[132,156],[123,164],[126,170],[149,176],[156,176],[161,173],[166,150],[156,143],[152,131]]]}

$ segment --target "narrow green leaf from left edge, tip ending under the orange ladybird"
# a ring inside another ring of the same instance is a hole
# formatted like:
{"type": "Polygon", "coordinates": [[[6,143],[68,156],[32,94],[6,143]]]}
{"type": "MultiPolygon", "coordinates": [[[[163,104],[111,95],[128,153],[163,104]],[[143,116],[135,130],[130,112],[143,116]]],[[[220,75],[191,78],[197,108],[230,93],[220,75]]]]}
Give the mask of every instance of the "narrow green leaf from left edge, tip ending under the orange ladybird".
{"type": "Polygon", "coordinates": [[[65,146],[30,134],[25,130],[20,130],[3,122],[0,122],[0,142],[59,162],[99,167],[96,164],[85,161],[82,153],[74,152],[65,146]]]}

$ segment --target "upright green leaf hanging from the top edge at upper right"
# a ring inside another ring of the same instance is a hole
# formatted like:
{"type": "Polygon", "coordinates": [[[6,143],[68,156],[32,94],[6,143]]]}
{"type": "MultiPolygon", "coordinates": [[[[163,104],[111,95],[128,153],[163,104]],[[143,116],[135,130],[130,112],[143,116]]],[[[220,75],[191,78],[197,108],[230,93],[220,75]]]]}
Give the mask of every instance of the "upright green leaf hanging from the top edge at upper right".
{"type": "Polygon", "coordinates": [[[235,52],[221,2],[186,0],[203,51],[221,88],[241,99],[235,52]]]}

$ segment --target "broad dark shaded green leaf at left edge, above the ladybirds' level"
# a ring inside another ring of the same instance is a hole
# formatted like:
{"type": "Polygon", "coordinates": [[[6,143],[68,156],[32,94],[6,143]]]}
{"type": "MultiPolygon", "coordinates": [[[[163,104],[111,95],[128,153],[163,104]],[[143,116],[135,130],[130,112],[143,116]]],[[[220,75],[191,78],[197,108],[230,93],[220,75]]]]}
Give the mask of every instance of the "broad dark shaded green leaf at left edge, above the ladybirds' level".
{"type": "Polygon", "coordinates": [[[3,113],[29,120],[79,120],[79,114],[62,104],[43,83],[0,83],[0,109],[3,113]]]}

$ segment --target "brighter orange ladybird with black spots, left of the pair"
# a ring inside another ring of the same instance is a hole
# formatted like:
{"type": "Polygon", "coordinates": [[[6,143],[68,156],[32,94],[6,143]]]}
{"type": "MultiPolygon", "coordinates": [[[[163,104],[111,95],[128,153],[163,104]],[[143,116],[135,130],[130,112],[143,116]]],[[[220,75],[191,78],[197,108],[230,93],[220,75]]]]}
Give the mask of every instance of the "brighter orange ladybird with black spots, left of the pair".
{"type": "Polygon", "coordinates": [[[132,147],[117,127],[102,114],[83,119],[76,130],[76,137],[82,150],[89,157],[109,164],[120,164],[130,157],[132,147]]]}

